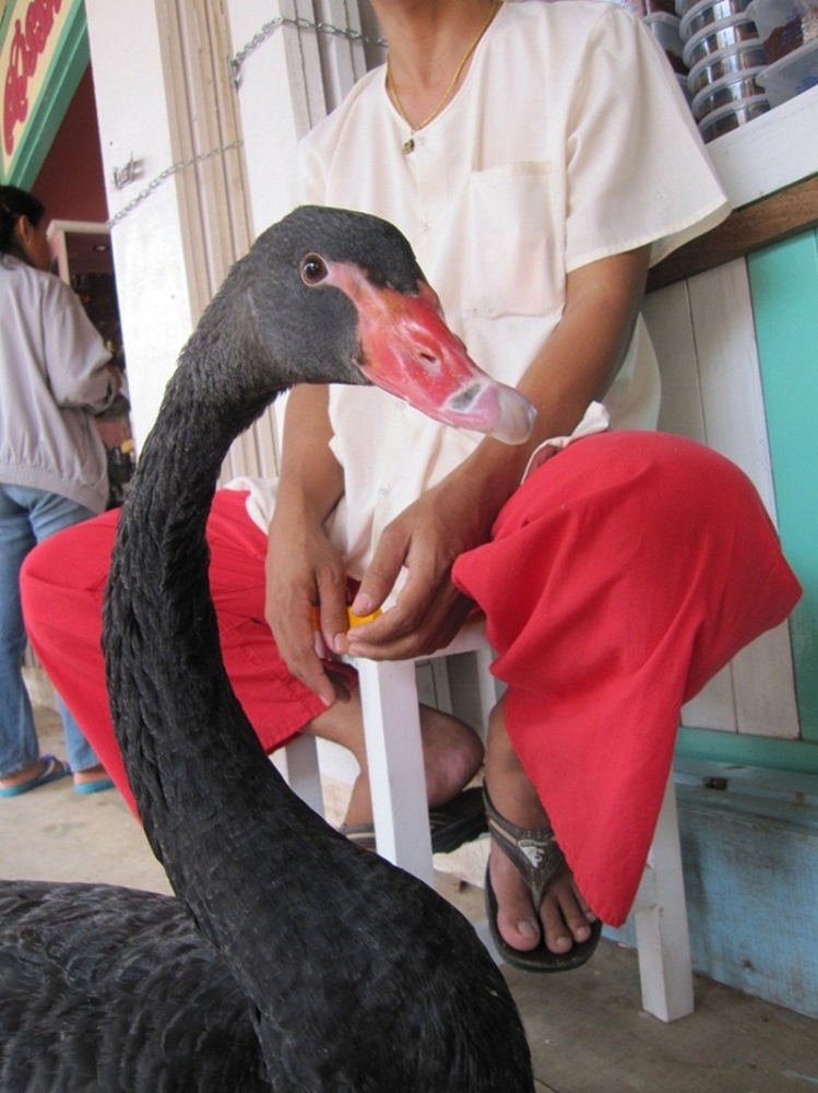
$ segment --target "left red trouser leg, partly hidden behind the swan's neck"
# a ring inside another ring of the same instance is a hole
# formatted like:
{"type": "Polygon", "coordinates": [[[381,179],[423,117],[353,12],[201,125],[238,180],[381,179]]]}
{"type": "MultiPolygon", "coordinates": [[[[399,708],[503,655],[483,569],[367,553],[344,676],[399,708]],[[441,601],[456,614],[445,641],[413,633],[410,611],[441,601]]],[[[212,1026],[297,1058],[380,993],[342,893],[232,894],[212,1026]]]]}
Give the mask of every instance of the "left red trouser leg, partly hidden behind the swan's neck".
{"type": "MultiPolygon", "coordinates": [[[[264,621],[266,537],[250,520],[245,493],[220,490],[208,520],[210,583],[222,656],[233,687],[266,751],[327,707],[287,671],[264,621]]],[[[106,771],[137,812],[105,687],[102,612],[118,512],[88,520],[84,533],[52,537],[33,551],[21,578],[32,645],[106,771]],[[50,543],[50,540],[48,540],[50,543]],[[47,543],[44,543],[47,545],[47,543]]]]}

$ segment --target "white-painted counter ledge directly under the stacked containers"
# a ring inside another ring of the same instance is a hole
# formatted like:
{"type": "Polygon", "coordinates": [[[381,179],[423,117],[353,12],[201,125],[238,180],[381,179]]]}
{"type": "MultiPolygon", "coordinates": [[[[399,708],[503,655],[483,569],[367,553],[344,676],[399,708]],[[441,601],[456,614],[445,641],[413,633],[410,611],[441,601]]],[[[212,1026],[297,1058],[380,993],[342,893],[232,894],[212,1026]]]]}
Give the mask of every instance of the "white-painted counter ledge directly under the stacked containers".
{"type": "Polygon", "coordinates": [[[818,172],[818,87],[707,145],[734,208],[818,172]]]}

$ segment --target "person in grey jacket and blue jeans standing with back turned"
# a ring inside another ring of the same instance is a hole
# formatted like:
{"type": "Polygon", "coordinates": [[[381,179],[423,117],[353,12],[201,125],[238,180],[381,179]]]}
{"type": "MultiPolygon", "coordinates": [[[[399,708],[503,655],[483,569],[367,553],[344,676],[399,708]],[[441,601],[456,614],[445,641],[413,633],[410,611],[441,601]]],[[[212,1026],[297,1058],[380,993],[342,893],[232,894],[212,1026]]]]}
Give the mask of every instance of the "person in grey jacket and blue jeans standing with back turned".
{"type": "Polygon", "coordinates": [[[0,187],[0,797],[70,773],[81,794],[112,786],[61,700],[69,765],[39,754],[21,671],[23,561],[105,507],[105,449],[92,413],[118,386],[102,338],[49,268],[42,202],[0,187]]]}

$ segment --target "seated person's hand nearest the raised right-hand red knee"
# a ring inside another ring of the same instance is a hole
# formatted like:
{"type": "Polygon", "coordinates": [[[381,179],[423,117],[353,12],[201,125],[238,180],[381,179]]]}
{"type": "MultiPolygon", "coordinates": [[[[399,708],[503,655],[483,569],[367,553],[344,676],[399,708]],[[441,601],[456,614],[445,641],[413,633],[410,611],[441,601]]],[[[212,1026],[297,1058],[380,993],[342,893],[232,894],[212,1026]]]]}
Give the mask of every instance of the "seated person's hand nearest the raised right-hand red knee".
{"type": "Polygon", "coordinates": [[[473,607],[452,584],[452,565],[486,542],[494,518],[478,492],[476,482],[454,472],[384,528],[353,611],[365,615],[381,607],[403,567],[406,580],[393,607],[349,631],[345,649],[353,656],[402,660],[452,640],[473,607]]]}

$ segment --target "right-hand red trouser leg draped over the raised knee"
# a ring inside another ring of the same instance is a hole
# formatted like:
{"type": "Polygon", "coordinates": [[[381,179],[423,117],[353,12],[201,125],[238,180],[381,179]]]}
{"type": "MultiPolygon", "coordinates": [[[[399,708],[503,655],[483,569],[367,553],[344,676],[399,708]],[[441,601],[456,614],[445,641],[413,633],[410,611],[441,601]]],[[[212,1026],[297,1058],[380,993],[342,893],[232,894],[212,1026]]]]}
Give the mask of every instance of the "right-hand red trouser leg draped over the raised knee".
{"type": "Polygon", "coordinates": [[[533,474],[454,580],[486,613],[511,742],[579,890],[618,926],[683,703],[801,597],[767,512],[702,445],[604,433],[533,474]]]}

